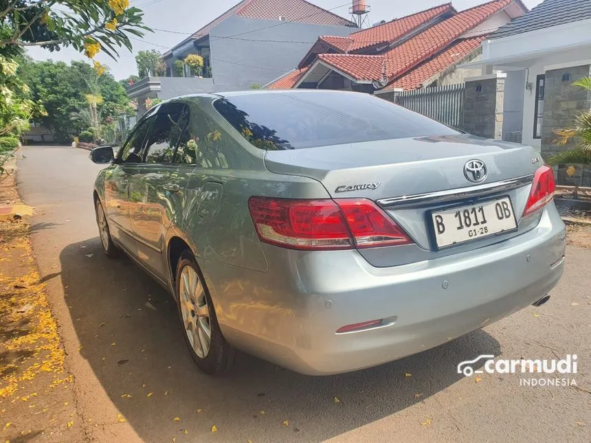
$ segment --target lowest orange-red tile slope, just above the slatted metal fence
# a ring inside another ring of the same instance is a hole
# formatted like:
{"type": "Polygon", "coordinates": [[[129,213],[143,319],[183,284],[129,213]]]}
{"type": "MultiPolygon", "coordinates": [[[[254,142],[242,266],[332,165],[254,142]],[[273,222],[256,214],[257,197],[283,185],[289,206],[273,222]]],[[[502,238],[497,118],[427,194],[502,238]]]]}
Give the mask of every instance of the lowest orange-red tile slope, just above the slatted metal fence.
{"type": "Polygon", "coordinates": [[[447,47],[445,51],[440,52],[430,60],[421,63],[421,65],[397,78],[384,89],[416,89],[421,87],[425,82],[438,75],[438,73],[445,71],[450,66],[456,65],[462,58],[471,54],[471,52],[480,46],[484,38],[487,38],[487,36],[464,38],[457,41],[447,47]]]}

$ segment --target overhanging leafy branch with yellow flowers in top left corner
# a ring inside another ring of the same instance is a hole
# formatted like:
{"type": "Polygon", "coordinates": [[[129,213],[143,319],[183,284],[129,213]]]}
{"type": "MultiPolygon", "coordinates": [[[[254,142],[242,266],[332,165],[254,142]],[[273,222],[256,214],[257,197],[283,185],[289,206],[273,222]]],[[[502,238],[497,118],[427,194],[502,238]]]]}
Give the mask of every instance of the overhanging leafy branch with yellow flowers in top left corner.
{"type": "Polygon", "coordinates": [[[0,51],[15,56],[19,47],[71,46],[93,58],[89,45],[99,45],[116,58],[119,48],[132,49],[130,35],[150,30],[142,19],[129,0],[0,0],[0,51]]]}

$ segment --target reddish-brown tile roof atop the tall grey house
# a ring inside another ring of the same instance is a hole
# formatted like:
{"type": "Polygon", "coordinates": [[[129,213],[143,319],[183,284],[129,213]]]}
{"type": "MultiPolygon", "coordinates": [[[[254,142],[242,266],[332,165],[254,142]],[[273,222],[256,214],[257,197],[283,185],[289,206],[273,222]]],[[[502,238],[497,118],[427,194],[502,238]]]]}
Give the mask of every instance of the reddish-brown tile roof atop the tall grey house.
{"type": "Polygon", "coordinates": [[[200,30],[194,32],[192,36],[181,41],[181,43],[172,49],[188,41],[208,35],[212,27],[232,15],[266,20],[279,20],[279,16],[284,16],[287,18],[287,21],[298,21],[313,25],[356,27],[352,21],[348,21],[337,14],[333,14],[333,12],[322,9],[305,0],[243,0],[236,3],[236,5],[221,14],[221,16],[201,27],[200,30]]]}

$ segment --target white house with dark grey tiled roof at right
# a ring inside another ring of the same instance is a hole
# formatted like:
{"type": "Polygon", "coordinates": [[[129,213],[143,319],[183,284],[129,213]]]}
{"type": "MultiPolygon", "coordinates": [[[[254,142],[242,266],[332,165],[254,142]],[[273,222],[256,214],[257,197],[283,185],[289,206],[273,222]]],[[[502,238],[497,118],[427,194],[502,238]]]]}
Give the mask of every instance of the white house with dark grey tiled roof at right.
{"type": "Polygon", "coordinates": [[[483,74],[506,73],[504,138],[520,132],[522,143],[551,155],[561,149],[555,130],[591,109],[591,94],[572,86],[591,76],[591,1],[543,1],[500,27],[482,42],[482,58],[462,67],[478,65],[483,74]]]}

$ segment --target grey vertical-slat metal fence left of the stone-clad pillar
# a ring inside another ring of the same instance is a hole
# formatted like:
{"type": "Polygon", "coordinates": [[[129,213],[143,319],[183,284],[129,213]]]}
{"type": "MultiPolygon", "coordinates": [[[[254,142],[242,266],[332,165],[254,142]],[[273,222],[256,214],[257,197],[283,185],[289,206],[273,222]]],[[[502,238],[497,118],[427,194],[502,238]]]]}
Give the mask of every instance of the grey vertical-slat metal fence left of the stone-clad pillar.
{"type": "Polygon", "coordinates": [[[464,124],[465,84],[414,89],[398,93],[394,101],[438,122],[462,128],[464,124]]]}

